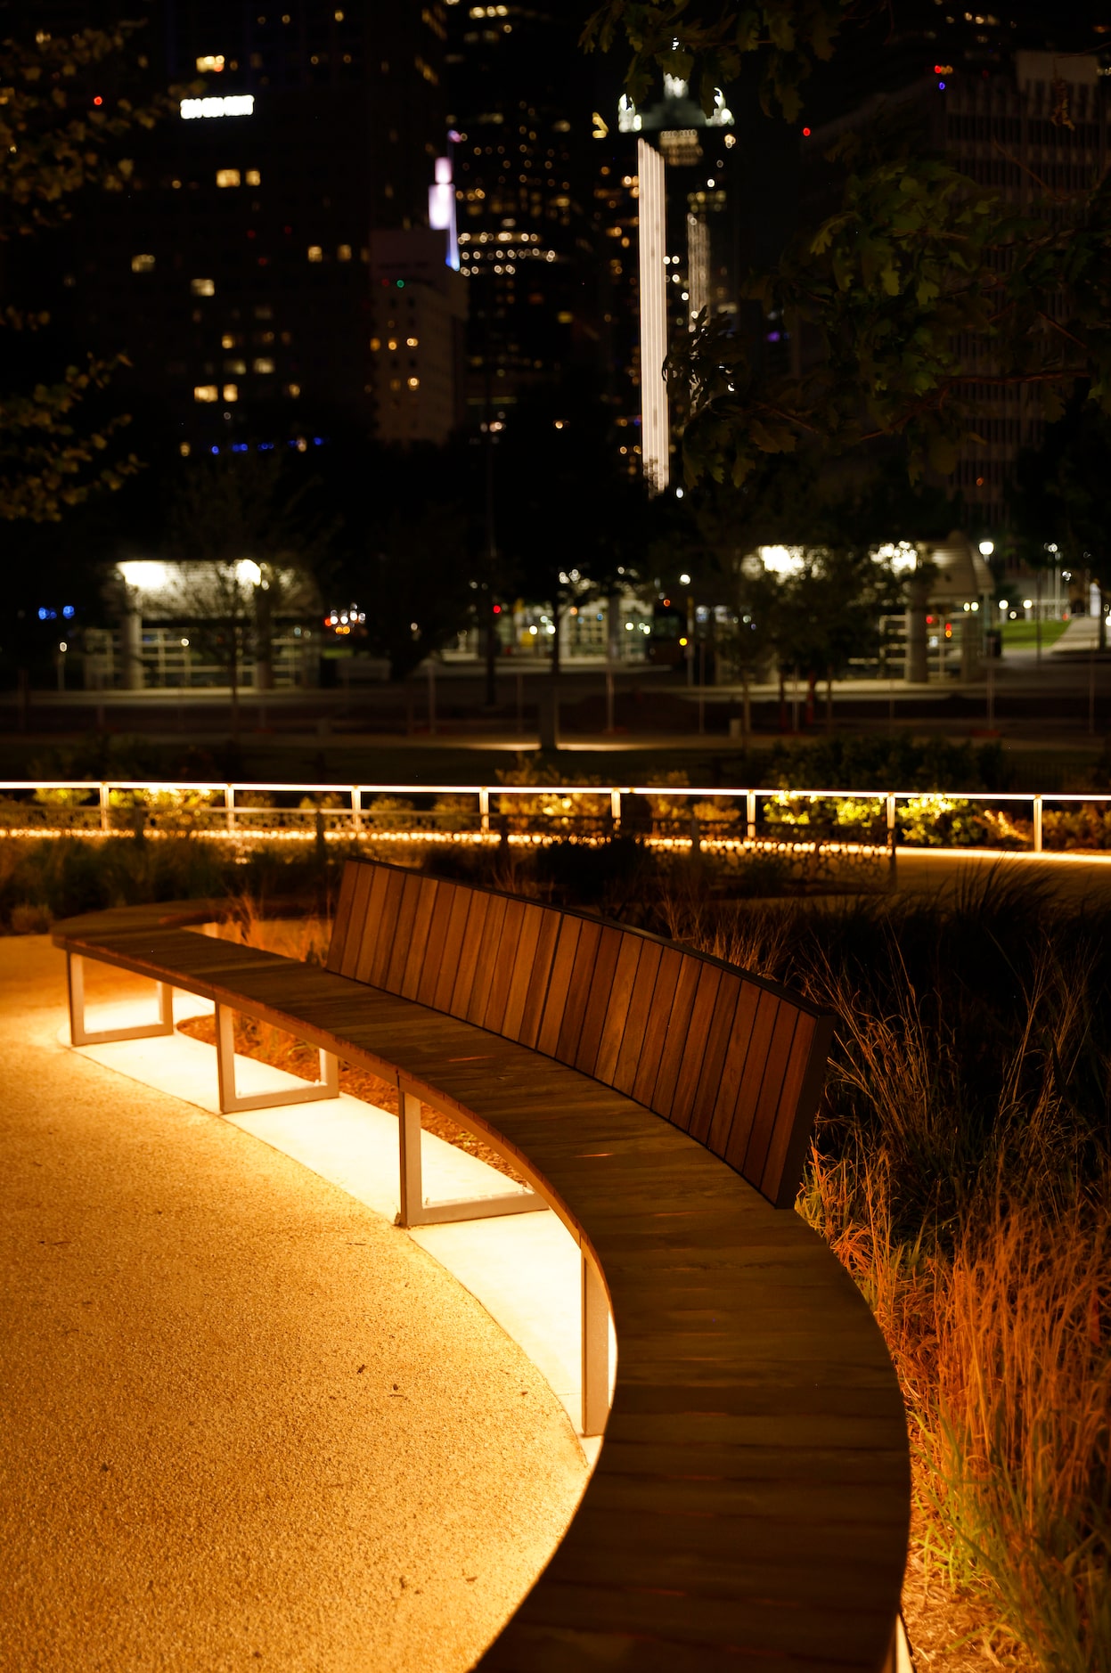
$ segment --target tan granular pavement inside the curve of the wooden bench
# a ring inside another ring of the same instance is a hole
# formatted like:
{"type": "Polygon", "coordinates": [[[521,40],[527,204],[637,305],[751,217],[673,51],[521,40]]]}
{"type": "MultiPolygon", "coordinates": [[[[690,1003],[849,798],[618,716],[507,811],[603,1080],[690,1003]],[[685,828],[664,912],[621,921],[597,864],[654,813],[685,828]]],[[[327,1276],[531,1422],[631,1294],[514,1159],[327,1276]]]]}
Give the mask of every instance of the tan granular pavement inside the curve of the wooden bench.
{"type": "Polygon", "coordinates": [[[59,1046],[0,940],[0,1670],[467,1668],[586,1482],[534,1363],[385,1218],[59,1046]]]}

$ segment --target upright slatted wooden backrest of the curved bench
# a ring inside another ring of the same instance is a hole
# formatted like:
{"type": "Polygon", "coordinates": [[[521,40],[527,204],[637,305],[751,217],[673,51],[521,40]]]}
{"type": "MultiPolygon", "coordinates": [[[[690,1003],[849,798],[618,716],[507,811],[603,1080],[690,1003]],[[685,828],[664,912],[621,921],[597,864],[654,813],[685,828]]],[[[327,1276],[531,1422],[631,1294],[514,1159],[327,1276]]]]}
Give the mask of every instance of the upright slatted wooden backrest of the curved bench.
{"type": "Polygon", "coordinates": [[[833,1032],[801,995],[641,930],[361,860],[328,969],[556,1057],[795,1201],[833,1032]]]}

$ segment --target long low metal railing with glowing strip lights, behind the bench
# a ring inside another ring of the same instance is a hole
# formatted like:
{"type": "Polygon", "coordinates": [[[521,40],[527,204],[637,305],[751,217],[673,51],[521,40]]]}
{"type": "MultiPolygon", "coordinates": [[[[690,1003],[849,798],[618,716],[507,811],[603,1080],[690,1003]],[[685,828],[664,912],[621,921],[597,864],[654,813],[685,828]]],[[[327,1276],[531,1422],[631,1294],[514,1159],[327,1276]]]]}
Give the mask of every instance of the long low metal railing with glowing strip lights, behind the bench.
{"type": "Polygon", "coordinates": [[[1088,840],[1073,831],[1073,847],[1111,852],[1111,793],[1103,791],[0,780],[0,831],[7,835],[112,835],[134,831],[152,820],[156,828],[187,826],[233,838],[346,835],[529,842],[561,835],[592,840],[627,831],[649,842],[709,850],[751,843],[934,852],[1002,847],[1052,855],[1067,852],[1069,831],[1062,833],[1064,843],[1051,840],[1047,845],[1046,813],[1067,815],[1083,808],[1093,810],[1103,828],[1088,831],[1088,840]],[[853,816],[857,808],[858,818],[853,816]],[[994,818],[996,830],[982,825],[979,836],[965,833],[965,840],[944,840],[952,836],[944,821],[967,813],[994,818]]]}

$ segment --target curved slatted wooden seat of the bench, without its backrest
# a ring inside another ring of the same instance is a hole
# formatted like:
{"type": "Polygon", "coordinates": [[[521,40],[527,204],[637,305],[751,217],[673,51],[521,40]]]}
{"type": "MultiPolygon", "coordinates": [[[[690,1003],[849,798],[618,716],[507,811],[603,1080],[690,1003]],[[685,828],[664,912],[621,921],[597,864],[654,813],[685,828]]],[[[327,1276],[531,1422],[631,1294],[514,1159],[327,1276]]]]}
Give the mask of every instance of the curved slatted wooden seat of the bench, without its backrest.
{"type": "Polygon", "coordinates": [[[599,1462],[479,1666],[893,1666],[904,1404],[818,1235],[632,1097],[417,1000],[184,927],[212,915],[127,908],[54,939],[427,1092],[515,1161],[604,1278],[617,1375],[599,1462]]]}

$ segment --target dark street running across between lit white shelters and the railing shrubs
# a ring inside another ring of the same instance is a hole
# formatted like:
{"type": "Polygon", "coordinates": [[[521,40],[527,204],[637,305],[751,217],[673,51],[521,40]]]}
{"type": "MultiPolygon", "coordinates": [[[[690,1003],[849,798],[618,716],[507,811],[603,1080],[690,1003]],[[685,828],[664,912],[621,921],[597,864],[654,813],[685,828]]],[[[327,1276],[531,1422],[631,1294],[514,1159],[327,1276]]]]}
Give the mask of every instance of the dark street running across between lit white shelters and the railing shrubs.
{"type": "MultiPolygon", "coordinates": [[[[1094,624],[1093,624],[1094,626],[1094,624]]],[[[0,694],[0,734],[87,736],[142,734],[167,743],[212,739],[233,731],[310,739],[335,736],[363,743],[400,739],[452,741],[485,748],[535,748],[540,698],[550,686],[545,668],[512,664],[497,669],[497,703],[485,703],[485,673],[479,664],[437,668],[435,679],[418,671],[403,684],[365,684],[333,689],[246,688],[238,696],[238,726],[228,688],[159,691],[33,691],[0,694]]],[[[604,664],[572,666],[559,674],[561,743],[576,748],[617,744],[658,748],[701,738],[740,743],[745,716],[740,684],[691,686],[683,671],[649,666],[621,668],[612,676],[612,708],[604,664]]],[[[899,681],[842,679],[833,683],[833,729],[877,731],[914,726],[919,733],[1084,746],[1111,723],[1111,652],[1054,651],[1037,659],[1032,649],[1009,651],[972,683],[949,679],[909,686],[899,681]]],[[[750,688],[751,729],[760,738],[781,733],[822,733],[827,691],[813,696],[806,716],[805,683],[786,679],[783,704],[778,684],[750,688]]]]}

